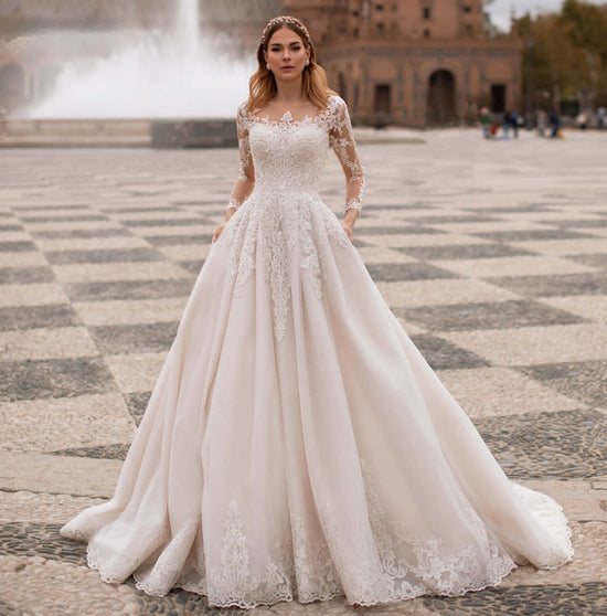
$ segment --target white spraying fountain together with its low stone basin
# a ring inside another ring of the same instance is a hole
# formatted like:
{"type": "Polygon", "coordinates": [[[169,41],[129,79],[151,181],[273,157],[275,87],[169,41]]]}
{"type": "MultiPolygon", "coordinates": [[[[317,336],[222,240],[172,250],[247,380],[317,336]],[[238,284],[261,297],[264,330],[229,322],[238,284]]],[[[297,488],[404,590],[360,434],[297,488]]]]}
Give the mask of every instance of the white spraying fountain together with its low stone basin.
{"type": "Polygon", "coordinates": [[[93,130],[99,145],[143,145],[135,136],[121,144],[116,138],[120,126],[140,134],[143,124],[158,147],[233,145],[233,118],[254,65],[224,53],[230,52],[225,36],[221,45],[202,40],[199,19],[198,0],[179,0],[174,24],[166,32],[127,32],[127,45],[125,32],[116,33],[118,51],[68,62],[50,95],[24,110],[25,118],[67,132],[68,125],[93,130]],[[109,144],[100,138],[104,132],[109,144]]]}

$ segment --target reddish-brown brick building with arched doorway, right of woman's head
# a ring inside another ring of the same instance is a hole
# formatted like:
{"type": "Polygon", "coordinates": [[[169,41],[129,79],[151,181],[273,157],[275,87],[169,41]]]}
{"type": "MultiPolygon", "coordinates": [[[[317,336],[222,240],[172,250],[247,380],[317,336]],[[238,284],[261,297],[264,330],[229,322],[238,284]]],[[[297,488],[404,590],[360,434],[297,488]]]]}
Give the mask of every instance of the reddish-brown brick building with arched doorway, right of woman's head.
{"type": "Polygon", "coordinates": [[[353,118],[429,126],[520,105],[521,47],[489,40],[482,0],[285,0],[353,118]],[[328,7],[328,4],[331,4],[328,7]]]}

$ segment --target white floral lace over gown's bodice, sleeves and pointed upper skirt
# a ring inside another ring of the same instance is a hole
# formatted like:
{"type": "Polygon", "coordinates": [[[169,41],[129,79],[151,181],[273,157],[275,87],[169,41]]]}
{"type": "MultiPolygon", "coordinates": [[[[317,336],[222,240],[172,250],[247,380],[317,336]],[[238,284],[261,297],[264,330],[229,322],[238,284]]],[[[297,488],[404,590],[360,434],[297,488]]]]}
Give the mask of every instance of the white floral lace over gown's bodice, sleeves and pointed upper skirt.
{"type": "Polygon", "coordinates": [[[237,296],[262,257],[263,275],[271,289],[275,337],[280,341],[288,322],[294,284],[294,247],[300,246],[299,267],[307,272],[319,299],[327,251],[331,249],[328,240],[352,251],[341,224],[318,193],[329,146],[347,176],[348,208],[360,209],[364,178],[348,109],[337,96],[329,99],[321,114],[301,120],[292,120],[290,114],[280,120],[257,118],[244,105],[237,117],[241,169],[245,179],[255,177],[255,188],[239,205],[244,188],[236,187],[231,206],[236,204],[237,211],[224,232],[224,242],[230,246],[237,296]]]}

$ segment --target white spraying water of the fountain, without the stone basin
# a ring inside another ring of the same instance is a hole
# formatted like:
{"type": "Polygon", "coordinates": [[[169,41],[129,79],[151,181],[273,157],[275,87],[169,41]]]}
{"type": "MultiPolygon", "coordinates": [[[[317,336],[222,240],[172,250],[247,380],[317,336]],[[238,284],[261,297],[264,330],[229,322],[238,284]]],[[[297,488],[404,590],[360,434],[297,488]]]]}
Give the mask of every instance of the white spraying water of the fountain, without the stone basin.
{"type": "MultiPolygon", "coordinates": [[[[94,34],[90,34],[94,36],[94,34]]],[[[68,63],[32,118],[234,116],[254,65],[201,40],[198,0],[179,0],[172,30],[142,32],[109,57],[68,63]]]]}

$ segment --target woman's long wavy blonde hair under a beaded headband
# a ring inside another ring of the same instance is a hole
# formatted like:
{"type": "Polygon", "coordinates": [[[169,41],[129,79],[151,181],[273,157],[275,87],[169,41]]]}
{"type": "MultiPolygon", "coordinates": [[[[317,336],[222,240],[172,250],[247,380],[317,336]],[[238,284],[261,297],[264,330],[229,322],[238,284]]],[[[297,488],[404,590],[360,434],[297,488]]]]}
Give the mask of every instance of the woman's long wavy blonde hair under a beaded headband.
{"type": "Polygon", "coordinates": [[[327,73],[324,73],[322,66],[316,62],[316,50],[310,39],[310,33],[306,25],[297,18],[281,15],[269,20],[262,34],[262,40],[257,47],[257,71],[255,71],[248,81],[247,110],[255,111],[256,109],[262,109],[278,91],[274,73],[266,67],[264,52],[267,51],[271,35],[283,28],[292,30],[310,52],[310,64],[303,68],[301,75],[303,94],[319,109],[324,109],[329,103],[329,96],[336,93],[329,89],[327,73]]]}

